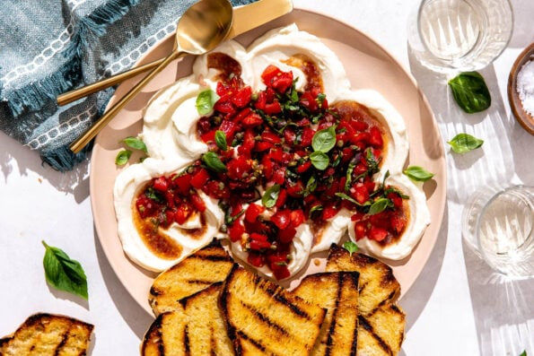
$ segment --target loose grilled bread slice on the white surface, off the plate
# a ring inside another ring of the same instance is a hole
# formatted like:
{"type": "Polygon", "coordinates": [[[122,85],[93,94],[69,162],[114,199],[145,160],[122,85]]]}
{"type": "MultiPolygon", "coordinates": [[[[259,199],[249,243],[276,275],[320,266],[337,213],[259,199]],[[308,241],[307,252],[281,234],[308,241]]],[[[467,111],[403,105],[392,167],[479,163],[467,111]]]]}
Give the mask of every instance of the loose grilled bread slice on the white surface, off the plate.
{"type": "Polygon", "coordinates": [[[72,317],[35,314],[12,335],[0,339],[0,356],[85,355],[92,328],[72,317]]]}

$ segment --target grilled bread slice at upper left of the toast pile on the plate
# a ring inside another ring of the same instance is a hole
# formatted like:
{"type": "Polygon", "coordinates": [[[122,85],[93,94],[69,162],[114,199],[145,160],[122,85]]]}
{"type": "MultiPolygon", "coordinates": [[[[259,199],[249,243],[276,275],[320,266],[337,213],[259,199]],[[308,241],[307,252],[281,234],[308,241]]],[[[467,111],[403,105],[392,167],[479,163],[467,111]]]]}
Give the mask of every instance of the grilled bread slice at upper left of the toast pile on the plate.
{"type": "Polygon", "coordinates": [[[157,317],[179,308],[178,301],[214,282],[222,282],[232,269],[232,257],[217,239],[162,272],[154,280],[148,301],[157,317]]]}

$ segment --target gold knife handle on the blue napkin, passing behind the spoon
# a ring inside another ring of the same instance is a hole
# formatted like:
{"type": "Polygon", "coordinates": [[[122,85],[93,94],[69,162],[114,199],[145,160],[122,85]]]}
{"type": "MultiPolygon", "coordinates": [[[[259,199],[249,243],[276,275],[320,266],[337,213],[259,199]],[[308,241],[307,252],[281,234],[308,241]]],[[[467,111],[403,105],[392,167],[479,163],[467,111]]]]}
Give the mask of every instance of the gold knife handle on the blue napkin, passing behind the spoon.
{"type": "Polygon", "coordinates": [[[164,60],[165,58],[161,58],[156,61],[147,63],[146,65],[141,65],[136,68],[129,69],[126,72],[112,75],[109,78],[102,79],[100,82],[93,82],[92,84],[85,85],[82,88],[67,91],[57,96],[57,104],[59,106],[63,106],[68,104],[69,102],[82,99],[83,97],[90,95],[93,92],[102,91],[112,85],[118,84],[119,82],[124,82],[127,79],[136,76],[137,74],[144,73],[149,69],[153,69],[156,66],[161,65],[164,60]]]}

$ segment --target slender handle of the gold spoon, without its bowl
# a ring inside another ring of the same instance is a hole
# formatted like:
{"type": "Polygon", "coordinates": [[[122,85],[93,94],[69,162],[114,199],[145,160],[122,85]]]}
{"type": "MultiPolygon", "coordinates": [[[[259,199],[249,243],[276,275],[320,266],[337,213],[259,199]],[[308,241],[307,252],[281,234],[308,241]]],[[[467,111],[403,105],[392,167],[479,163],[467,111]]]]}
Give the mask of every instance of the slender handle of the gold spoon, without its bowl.
{"type": "Polygon", "coordinates": [[[89,143],[94,138],[94,136],[101,132],[101,129],[104,128],[104,126],[108,125],[109,121],[117,115],[118,111],[124,108],[127,103],[132,100],[137,95],[137,93],[139,93],[139,91],[144,88],[144,85],[150,82],[156,74],[160,73],[162,69],[165,66],[169,65],[174,59],[185,55],[185,52],[180,52],[178,50],[172,51],[169,56],[163,59],[160,65],[158,65],[156,68],[153,69],[152,72],[146,75],[143,80],[141,80],[141,82],[138,82],[135,87],[130,89],[130,91],[128,91],[127,94],[121,100],[118,100],[117,104],[111,107],[111,109],[109,109],[107,113],[105,113],[92,126],[90,126],[89,129],[85,133],[83,133],[83,135],[81,135],[74,141],[74,143],[71,143],[69,147],[70,150],[74,153],[82,151],[83,147],[85,147],[85,145],[89,143]]]}

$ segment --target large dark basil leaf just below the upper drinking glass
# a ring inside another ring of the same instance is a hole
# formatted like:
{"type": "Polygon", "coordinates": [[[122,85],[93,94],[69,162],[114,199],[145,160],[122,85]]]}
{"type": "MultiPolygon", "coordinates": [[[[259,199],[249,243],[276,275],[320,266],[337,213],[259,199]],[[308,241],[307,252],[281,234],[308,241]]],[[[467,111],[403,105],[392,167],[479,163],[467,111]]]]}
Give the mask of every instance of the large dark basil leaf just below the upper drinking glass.
{"type": "Polygon", "coordinates": [[[484,77],[477,72],[460,73],[449,81],[452,97],[468,114],[483,111],[491,105],[491,95],[484,77]]]}

